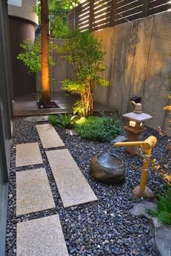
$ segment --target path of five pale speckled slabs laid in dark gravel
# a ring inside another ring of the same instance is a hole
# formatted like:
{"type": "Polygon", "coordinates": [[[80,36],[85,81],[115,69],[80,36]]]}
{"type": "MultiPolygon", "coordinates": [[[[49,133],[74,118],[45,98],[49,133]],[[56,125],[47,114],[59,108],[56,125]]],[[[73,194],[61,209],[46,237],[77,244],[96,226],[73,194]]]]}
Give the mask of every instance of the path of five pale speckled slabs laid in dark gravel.
{"type": "MultiPolygon", "coordinates": [[[[36,125],[44,149],[64,146],[49,124],[36,125]]],[[[67,149],[46,151],[64,207],[96,201],[96,195],[67,149]]],[[[43,163],[38,143],[16,146],[16,167],[43,163]]],[[[55,207],[44,168],[16,173],[17,215],[55,207]]],[[[17,256],[68,256],[58,215],[17,223],[17,256]]]]}

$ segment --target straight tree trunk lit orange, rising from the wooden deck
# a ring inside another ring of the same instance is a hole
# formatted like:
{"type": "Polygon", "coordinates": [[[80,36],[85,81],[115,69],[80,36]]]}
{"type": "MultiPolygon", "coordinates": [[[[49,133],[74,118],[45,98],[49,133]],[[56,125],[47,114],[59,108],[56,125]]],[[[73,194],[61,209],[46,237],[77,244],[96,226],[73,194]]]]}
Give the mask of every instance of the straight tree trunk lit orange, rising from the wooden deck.
{"type": "Polygon", "coordinates": [[[49,80],[49,5],[41,0],[41,86],[43,105],[51,103],[49,80]]]}

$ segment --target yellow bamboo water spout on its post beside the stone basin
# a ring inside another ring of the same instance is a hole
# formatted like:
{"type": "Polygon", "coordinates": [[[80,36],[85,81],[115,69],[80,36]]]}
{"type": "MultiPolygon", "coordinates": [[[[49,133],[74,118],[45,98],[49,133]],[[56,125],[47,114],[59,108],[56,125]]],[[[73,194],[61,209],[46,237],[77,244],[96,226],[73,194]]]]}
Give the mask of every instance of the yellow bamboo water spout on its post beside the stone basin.
{"type": "Polygon", "coordinates": [[[146,180],[148,176],[149,162],[151,160],[151,150],[157,144],[157,138],[154,136],[149,136],[145,141],[130,141],[130,142],[117,142],[114,146],[141,146],[143,152],[145,152],[145,157],[143,159],[143,167],[141,172],[141,182],[140,186],[136,186],[133,189],[133,195],[135,197],[151,198],[154,197],[152,191],[146,186],[146,180]]]}

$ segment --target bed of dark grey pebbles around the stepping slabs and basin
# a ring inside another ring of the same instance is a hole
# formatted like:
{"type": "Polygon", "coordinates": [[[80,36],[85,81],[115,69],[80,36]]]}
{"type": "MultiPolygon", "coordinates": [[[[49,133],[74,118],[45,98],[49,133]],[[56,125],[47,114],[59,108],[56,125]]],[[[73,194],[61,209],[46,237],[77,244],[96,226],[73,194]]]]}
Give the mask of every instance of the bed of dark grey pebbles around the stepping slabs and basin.
{"type": "MultiPolygon", "coordinates": [[[[61,128],[56,128],[59,136],[70,150],[75,162],[93,189],[98,202],[91,202],[78,207],[64,209],[59,197],[54,177],[51,173],[46,154],[36,131],[36,123],[28,123],[23,118],[15,118],[13,122],[12,155],[9,180],[9,205],[7,216],[7,256],[16,255],[16,227],[17,223],[25,220],[41,218],[43,216],[59,214],[67,244],[69,255],[82,256],[155,256],[154,241],[151,235],[149,220],[130,215],[130,208],[141,201],[133,197],[132,189],[139,184],[141,157],[130,155],[125,148],[112,148],[111,152],[125,160],[128,174],[125,183],[105,185],[93,181],[89,173],[89,165],[93,155],[108,152],[109,144],[86,141],[80,136],[70,136],[61,128]],[[41,149],[42,165],[30,165],[25,168],[15,168],[15,146],[26,142],[36,142],[41,149]],[[137,169],[133,170],[133,166],[137,169]],[[16,217],[16,170],[46,168],[51,191],[56,208],[16,217]]],[[[121,135],[125,135],[122,131],[121,135]]],[[[157,131],[148,129],[142,139],[149,135],[157,136],[158,144],[154,148],[154,157],[159,160],[164,155],[168,142],[167,136],[160,136],[157,131]]],[[[168,158],[169,162],[169,158],[168,158]]],[[[154,192],[163,186],[162,179],[153,170],[149,172],[148,184],[154,192]]],[[[44,255],[46,256],[46,255],[44,255]]]]}

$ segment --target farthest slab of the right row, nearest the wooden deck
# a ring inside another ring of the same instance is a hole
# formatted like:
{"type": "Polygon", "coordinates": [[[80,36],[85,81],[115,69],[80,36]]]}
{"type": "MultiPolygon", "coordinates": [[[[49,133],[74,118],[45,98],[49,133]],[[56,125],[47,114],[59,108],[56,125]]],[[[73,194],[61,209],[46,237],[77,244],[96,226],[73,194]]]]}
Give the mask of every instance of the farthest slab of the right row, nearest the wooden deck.
{"type": "Polygon", "coordinates": [[[51,124],[36,125],[44,149],[64,146],[62,139],[51,124]]]}

